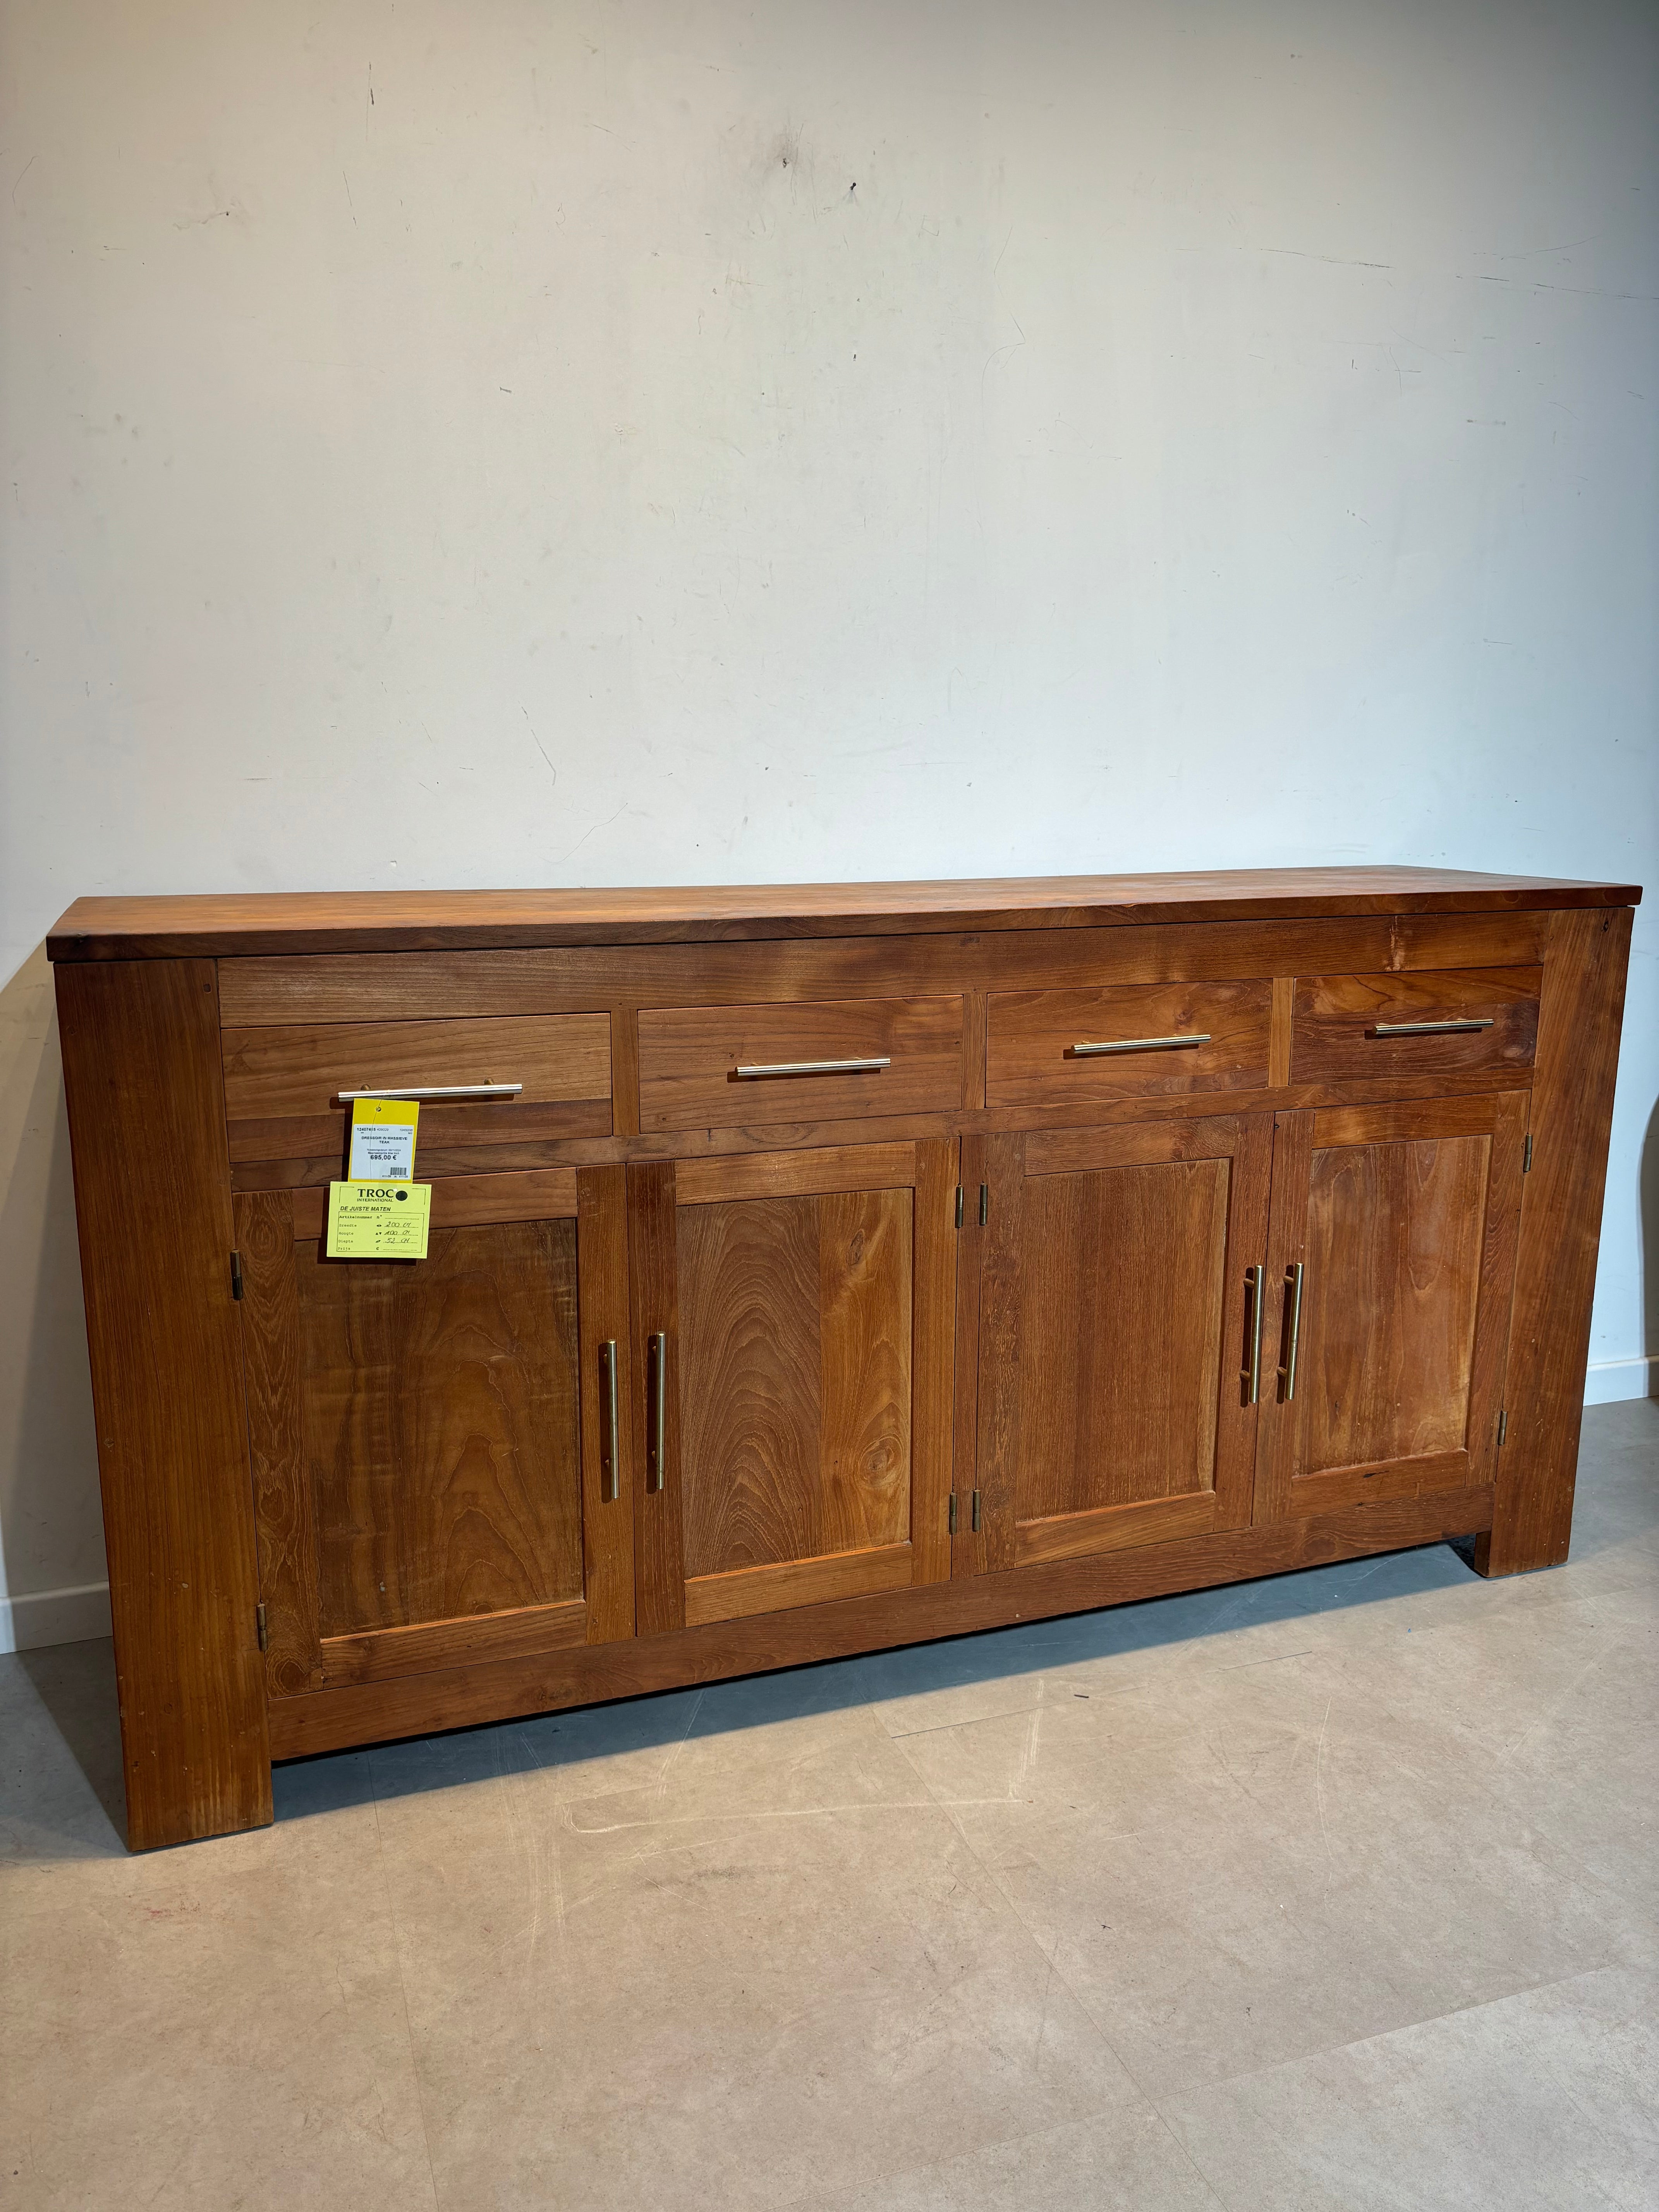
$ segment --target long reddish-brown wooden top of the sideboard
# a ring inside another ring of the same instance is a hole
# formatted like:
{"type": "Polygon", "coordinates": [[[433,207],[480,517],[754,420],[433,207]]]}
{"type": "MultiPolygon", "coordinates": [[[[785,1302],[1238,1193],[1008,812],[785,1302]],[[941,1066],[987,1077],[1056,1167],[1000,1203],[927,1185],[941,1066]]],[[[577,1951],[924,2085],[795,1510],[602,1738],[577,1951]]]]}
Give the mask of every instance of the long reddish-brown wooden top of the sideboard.
{"type": "Polygon", "coordinates": [[[697,945],[1352,914],[1630,907],[1628,883],[1451,867],[1252,867],[1164,876],[969,876],[942,883],[686,885],[571,891],[230,891],[77,898],[53,960],[697,945]]]}

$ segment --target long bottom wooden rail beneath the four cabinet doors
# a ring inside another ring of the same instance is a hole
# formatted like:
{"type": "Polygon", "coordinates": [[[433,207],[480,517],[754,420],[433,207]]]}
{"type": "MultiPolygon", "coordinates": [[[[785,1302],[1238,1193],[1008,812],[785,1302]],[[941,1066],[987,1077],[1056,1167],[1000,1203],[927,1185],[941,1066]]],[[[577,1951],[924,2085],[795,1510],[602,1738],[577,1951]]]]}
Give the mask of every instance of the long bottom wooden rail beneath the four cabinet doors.
{"type": "Polygon", "coordinates": [[[1263,1528],[1228,1528],[1088,1559],[931,1582],[878,1597],[836,1597],[792,1613],[710,1621],[657,1637],[624,1637],[529,1659],[476,1659],[429,1674],[312,1690],[270,1701],[270,1754],[305,1759],[352,1743],[385,1743],[568,1705],[602,1705],[650,1690],[765,1674],[814,1659],[845,1659],[852,1652],[1006,1628],[1013,1621],[1093,1613],[1139,1597],[1287,1575],[1301,1566],[1478,1535],[1491,1528],[1491,1517],[1489,1484],[1440,1491],[1263,1528]]]}

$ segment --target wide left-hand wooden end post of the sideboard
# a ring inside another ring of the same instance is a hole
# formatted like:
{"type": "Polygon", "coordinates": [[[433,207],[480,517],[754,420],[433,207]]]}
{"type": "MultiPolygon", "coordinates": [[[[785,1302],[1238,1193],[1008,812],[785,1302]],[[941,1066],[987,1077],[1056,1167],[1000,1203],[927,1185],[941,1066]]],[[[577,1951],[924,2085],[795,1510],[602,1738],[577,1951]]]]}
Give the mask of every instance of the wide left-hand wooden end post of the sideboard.
{"type": "Polygon", "coordinates": [[[270,1820],[212,960],[58,969],[126,1840],[270,1820]]]}

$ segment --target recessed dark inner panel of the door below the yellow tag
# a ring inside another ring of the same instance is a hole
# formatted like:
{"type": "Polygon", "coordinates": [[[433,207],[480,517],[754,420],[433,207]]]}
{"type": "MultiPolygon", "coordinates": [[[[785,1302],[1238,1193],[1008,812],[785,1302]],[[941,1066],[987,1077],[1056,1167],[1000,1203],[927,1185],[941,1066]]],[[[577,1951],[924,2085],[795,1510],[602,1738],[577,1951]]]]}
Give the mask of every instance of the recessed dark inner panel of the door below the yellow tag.
{"type": "Polygon", "coordinates": [[[294,1259],[323,1637],[582,1597],[575,1228],[294,1259]]]}

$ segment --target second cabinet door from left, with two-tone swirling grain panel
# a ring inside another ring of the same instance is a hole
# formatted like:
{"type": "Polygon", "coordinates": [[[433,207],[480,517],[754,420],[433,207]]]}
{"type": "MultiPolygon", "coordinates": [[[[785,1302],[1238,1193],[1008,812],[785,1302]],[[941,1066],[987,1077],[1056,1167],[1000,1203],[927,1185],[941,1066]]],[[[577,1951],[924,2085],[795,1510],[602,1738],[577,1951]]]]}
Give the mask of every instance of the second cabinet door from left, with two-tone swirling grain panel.
{"type": "Polygon", "coordinates": [[[628,1168],[639,1628],[949,1575],[956,1146],[628,1168]]]}

